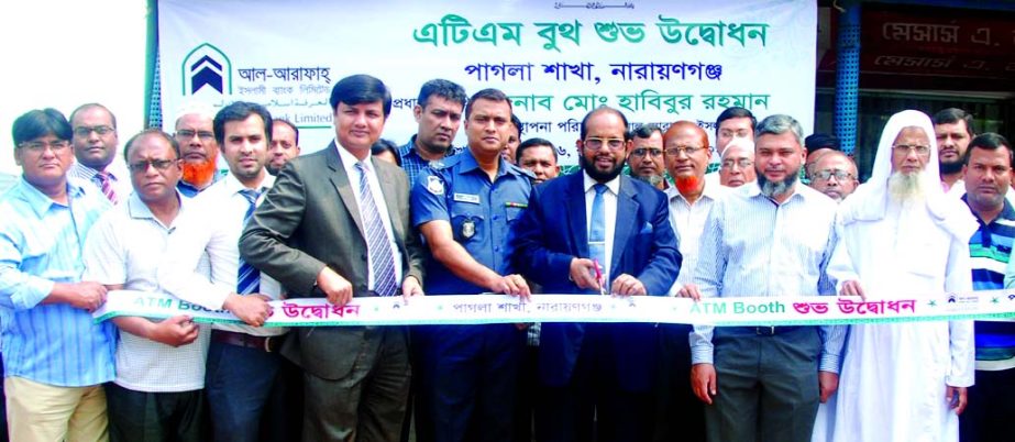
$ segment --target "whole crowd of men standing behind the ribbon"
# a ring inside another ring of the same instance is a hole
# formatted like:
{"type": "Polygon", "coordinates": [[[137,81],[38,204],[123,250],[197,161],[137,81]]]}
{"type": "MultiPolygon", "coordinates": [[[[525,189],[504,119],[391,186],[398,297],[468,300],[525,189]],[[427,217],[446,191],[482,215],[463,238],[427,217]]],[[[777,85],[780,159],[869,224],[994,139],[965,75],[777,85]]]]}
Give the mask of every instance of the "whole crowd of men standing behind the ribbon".
{"type": "Polygon", "coordinates": [[[122,151],[101,104],[21,115],[22,176],[0,196],[10,439],[1011,438],[1011,322],[264,327],[295,298],[1015,286],[1012,145],[959,109],[893,115],[860,185],[834,136],[785,114],[726,109],[710,146],[696,122],[631,130],[602,107],[561,175],[570,147],[526,139],[504,92],[434,79],[417,102],[399,146],[380,139],[384,82],[346,77],[334,141],[306,155],[295,124],[243,101],[184,109],[122,151]],[[243,324],[95,322],[120,289],[243,324]]]}

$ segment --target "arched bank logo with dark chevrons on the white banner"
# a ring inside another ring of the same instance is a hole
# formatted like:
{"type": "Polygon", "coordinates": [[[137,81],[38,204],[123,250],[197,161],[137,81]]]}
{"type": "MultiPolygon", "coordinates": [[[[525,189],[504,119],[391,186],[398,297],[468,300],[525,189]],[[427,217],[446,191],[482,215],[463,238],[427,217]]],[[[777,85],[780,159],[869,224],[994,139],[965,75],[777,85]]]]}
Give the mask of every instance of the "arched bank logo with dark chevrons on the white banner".
{"type": "Polygon", "coordinates": [[[210,43],[202,43],[184,57],[180,66],[184,96],[232,95],[232,62],[210,43]]]}

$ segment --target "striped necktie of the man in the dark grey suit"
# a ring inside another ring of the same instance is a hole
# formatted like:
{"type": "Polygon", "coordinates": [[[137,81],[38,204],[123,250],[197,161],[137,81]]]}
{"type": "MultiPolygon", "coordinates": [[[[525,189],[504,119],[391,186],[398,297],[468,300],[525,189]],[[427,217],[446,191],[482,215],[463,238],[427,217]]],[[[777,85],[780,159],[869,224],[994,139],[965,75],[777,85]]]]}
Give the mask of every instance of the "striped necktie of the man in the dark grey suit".
{"type": "Polygon", "coordinates": [[[377,211],[377,203],[371,191],[366,176],[367,166],[360,162],[356,163],[356,169],[360,170],[360,217],[363,217],[363,228],[366,230],[366,250],[369,255],[371,274],[374,275],[374,291],[380,296],[391,296],[398,290],[398,286],[395,281],[395,258],[391,256],[388,234],[384,230],[380,212],[377,211]]]}

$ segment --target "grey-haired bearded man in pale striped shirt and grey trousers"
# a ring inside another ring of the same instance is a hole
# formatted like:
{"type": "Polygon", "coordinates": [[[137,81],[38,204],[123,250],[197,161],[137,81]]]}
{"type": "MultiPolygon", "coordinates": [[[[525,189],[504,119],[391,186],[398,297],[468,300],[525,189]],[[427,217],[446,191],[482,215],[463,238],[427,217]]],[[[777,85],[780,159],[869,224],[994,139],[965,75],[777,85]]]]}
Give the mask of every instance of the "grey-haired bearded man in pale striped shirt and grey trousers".
{"type": "MultiPolygon", "coordinates": [[[[799,185],[804,136],[790,115],[754,132],[758,184],[713,205],[694,284],[681,296],[832,295],[825,273],[835,244],[830,199],[799,185]]],[[[694,325],[691,383],[708,440],[810,441],[818,401],[835,393],[841,327],[694,325]]]]}

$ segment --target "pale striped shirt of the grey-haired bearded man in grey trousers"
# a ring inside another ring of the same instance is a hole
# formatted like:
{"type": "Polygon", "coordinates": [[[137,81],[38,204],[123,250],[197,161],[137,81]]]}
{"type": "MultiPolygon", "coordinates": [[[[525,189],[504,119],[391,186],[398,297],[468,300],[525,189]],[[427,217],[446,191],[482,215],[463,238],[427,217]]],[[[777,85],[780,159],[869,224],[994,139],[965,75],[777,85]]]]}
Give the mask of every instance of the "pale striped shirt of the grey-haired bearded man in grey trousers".
{"type": "MultiPolygon", "coordinates": [[[[758,184],[718,199],[705,221],[694,283],[702,297],[835,295],[825,269],[835,245],[836,202],[809,187],[775,203],[758,184]]],[[[714,327],[691,333],[694,364],[711,364],[714,327]]],[[[819,369],[839,373],[846,328],[819,328],[819,369]]]]}

